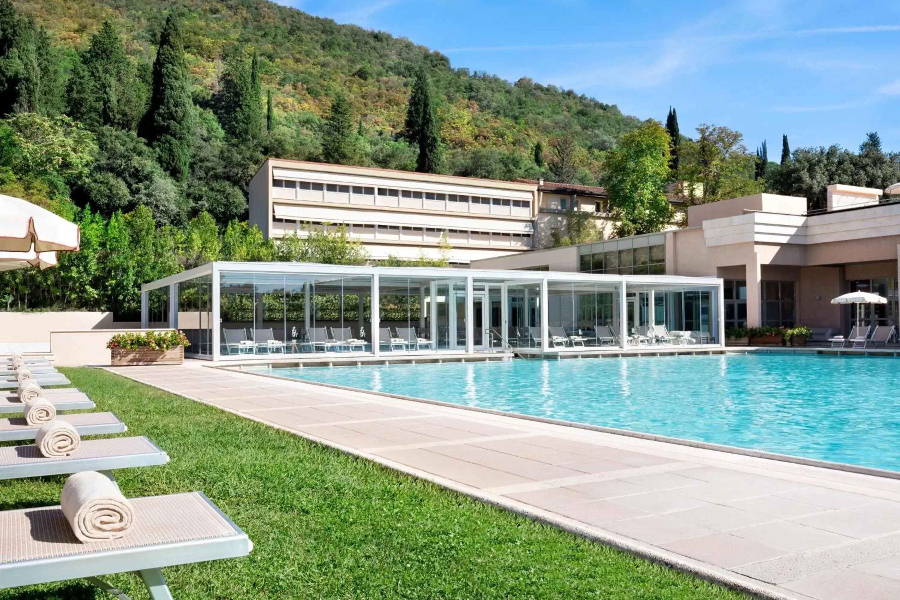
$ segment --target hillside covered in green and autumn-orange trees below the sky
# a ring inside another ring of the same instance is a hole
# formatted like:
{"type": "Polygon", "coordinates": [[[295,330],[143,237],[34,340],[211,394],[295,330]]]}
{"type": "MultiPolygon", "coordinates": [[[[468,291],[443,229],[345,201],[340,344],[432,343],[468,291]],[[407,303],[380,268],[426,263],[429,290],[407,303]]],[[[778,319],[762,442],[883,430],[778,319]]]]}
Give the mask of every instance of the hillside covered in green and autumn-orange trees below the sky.
{"type": "Polygon", "coordinates": [[[445,56],[410,40],[339,25],[265,0],[23,0],[15,4],[46,27],[70,58],[108,20],[122,33],[132,56],[150,60],[166,14],[177,11],[184,20],[185,49],[198,103],[215,89],[224,51],[234,45],[257,51],[263,58],[263,86],[274,92],[276,114],[309,138],[300,145],[308,156],[300,157],[318,152],[320,119],[328,113],[338,89],[347,91],[369,137],[396,134],[402,128],[412,75],[419,65],[428,68],[437,90],[451,171],[477,170],[479,161],[473,166],[472,153],[492,148],[501,158],[515,158],[500,175],[535,175],[530,157],[536,141],[550,148],[554,139],[568,135],[581,148],[581,179],[592,179],[597,175],[599,151],[614,146],[622,133],[640,123],[615,105],[527,78],[513,85],[496,76],[453,68],[445,56]]]}

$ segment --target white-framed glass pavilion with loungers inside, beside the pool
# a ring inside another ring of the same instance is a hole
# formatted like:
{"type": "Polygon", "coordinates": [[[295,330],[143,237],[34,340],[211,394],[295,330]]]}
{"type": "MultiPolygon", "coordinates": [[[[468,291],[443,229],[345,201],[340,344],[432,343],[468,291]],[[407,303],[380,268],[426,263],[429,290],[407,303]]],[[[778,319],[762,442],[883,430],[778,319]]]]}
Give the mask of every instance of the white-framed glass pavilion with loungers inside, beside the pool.
{"type": "Polygon", "coordinates": [[[144,285],[141,324],[229,362],[696,352],[723,346],[722,298],[716,278],[217,262],[144,285]]]}

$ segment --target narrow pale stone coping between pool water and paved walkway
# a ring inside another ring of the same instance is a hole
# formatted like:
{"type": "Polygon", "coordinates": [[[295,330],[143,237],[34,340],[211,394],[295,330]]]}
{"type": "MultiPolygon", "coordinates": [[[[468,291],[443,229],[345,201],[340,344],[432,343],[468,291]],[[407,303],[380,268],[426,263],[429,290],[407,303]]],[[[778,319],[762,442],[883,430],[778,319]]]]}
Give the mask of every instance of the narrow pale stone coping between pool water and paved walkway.
{"type": "Polygon", "coordinates": [[[680,446],[688,446],[690,448],[699,448],[701,450],[711,450],[714,452],[727,452],[730,454],[740,454],[742,456],[750,456],[752,458],[761,458],[768,459],[770,461],[780,461],[780,462],[790,462],[793,464],[804,465],[806,467],[816,467],[819,469],[830,469],[830,470],[840,470],[843,472],[849,473],[857,473],[860,475],[871,475],[873,477],[881,477],[885,479],[900,479],[900,471],[895,470],[887,470],[887,469],[878,469],[877,467],[864,467],[862,465],[855,465],[849,462],[835,462],[835,461],[822,461],[819,459],[811,459],[802,456],[792,456],[790,454],[781,454],[779,452],[766,452],[764,450],[753,450],[752,448],[741,448],[739,446],[729,446],[722,443],[711,443],[711,442],[699,442],[697,440],[688,440],[681,437],[671,437],[669,435],[658,435],[658,434],[644,434],[643,432],[631,431],[630,429],[620,429],[617,427],[607,427],[604,425],[590,425],[587,423],[578,423],[577,421],[566,421],[563,419],[554,419],[546,416],[534,416],[534,415],[523,415],[522,413],[514,413],[505,410],[498,410],[496,408],[483,408],[483,407],[471,407],[463,404],[454,404],[453,402],[446,402],[444,400],[433,400],[433,399],[425,399],[425,398],[416,398],[414,396],[403,396],[402,394],[392,394],[389,392],[383,391],[372,391],[372,390],[363,390],[361,388],[351,388],[349,386],[342,386],[336,383],[325,383],[322,381],[308,381],[295,379],[293,377],[285,377],[284,375],[275,375],[272,373],[261,373],[261,372],[253,372],[247,371],[244,369],[238,370],[229,367],[221,367],[218,365],[204,365],[207,368],[211,369],[222,369],[223,371],[232,371],[232,372],[241,372],[247,373],[249,375],[258,375],[260,377],[269,377],[272,379],[282,380],[282,381],[300,381],[301,383],[308,383],[310,385],[319,385],[325,388],[332,388],[335,390],[344,390],[344,391],[356,391],[363,392],[366,394],[374,394],[376,396],[384,396],[385,398],[392,399],[400,399],[400,400],[410,400],[412,402],[420,402],[423,404],[431,404],[438,407],[450,407],[450,408],[463,408],[464,410],[471,410],[473,412],[484,413],[487,415],[496,415],[496,416],[509,416],[512,418],[524,419],[527,421],[535,421],[536,423],[545,423],[547,425],[562,425],[566,427],[572,427],[574,429],[584,429],[587,431],[596,431],[601,434],[613,434],[613,435],[623,435],[625,437],[634,437],[642,440],[649,440],[652,442],[662,442],[662,443],[672,443],[680,446]]]}

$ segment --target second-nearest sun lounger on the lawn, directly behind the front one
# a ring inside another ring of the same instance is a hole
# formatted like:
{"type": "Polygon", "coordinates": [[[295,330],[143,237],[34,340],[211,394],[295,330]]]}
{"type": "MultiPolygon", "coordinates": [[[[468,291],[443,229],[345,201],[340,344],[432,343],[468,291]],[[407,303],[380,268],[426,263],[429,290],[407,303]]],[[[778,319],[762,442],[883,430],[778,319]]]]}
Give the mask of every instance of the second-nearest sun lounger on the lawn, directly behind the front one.
{"type": "Polygon", "coordinates": [[[67,475],[83,470],[107,472],[115,469],[152,467],[168,462],[168,455],[146,437],[111,437],[82,440],[68,456],[48,458],[38,447],[0,447],[0,479],[67,475]]]}

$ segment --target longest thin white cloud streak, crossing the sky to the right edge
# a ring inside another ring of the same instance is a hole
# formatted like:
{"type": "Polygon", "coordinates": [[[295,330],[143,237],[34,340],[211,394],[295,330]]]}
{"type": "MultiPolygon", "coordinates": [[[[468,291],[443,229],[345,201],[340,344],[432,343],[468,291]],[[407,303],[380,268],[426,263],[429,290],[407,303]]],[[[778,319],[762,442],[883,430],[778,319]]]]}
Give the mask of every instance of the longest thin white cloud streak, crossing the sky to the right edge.
{"type": "MultiPolygon", "coordinates": [[[[826,35],[852,35],[857,33],[887,33],[900,31],[898,25],[860,25],[855,27],[819,27],[816,29],[799,29],[794,31],[760,30],[746,33],[729,33],[726,35],[698,36],[673,38],[670,41],[682,44],[716,43],[716,42],[740,42],[754,40],[784,40],[791,38],[805,38],[826,35]]],[[[659,43],[659,39],[647,40],[606,40],[585,41],[564,44],[518,44],[507,46],[465,46],[461,48],[441,49],[445,53],[462,52],[516,52],[520,50],[547,50],[547,49],[589,49],[589,48],[615,48],[624,46],[651,46],[659,43]]]]}

